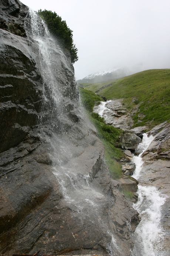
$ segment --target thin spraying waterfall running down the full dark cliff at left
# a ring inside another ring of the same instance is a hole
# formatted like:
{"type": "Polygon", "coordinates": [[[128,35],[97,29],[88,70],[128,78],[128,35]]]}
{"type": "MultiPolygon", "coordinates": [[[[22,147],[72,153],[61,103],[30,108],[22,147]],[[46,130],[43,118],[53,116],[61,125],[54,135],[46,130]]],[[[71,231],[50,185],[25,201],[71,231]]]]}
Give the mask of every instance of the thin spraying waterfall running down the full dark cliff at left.
{"type": "MultiPolygon", "coordinates": [[[[72,85],[71,90],[69,90],[70,77],[74,76],[70,65],[71,63],[69,63],[68,58],[66,58],[59,45],[56,43],[56,39],[51,37],[47,26],[40,17],[31,9],[28,16],[25,22],[25,29],[32,37],[32,42],[38,48],[39,52],[39,56],[36,58],[38,68],[43,78],[45,106],[43,106],[43,108],[46,108],[46,106],[50,104],[50,110],[47,111],[45,117],[47,118],[46,124],[52,126],[51,130],[53,133],[52,137],[47,136],[46,141],[50,142],[52,149],[51,152],[49,152],[53,163],[52,172],[60,184],[63,195],[62,200],[64,205],[71,209],[72,216],[79,220],[79,225],[82,226],[82,229],[88,224],[89,227],[93,226],[93,230],[100,230],[104,239],[109,241],[108,244],[103,245],[103,247],[105,247],[110,255],[115,255],[115,252],[117,253],[119,251],[119,247],[116,245],[113,230],[110,228],[109,217],[106,218],[108,211],[105,213],[109,203],[101,191],[97,191],[91,185],[91,175],[95,176],[93,165],[91,165],[89,174],[84,174],[84,170],[79,168],[81,155],[86,154],[84,148],[81,144],[76,145],[77,142],[72,142],[74,141],[74,135],[67,135],[67,127],[74,127],[75,125],[72,124],[68,118],[68,113],[70,109],[74,110],[71,99],[73,97],[76,98],[75,95],[77,93],[77,88],[74,89],[72,85]],[[67,70],[67,76],[69,76],[68,81],[64,81],[65,78],[63,74],[65,70],[67,70]],[[58,126],[58,123],[61,122],[62,119],[64,119],[64,124],[66,123],[67,125],[63,125],[62,129],[60,125],[59,129],[57,129],[57,133],[55,133],[54,128],[56,123],[58,126]]],[[[43,118],[44,117],[41,116],[41,119],[43,118]]],[[[82,122],[81,127],[83,126],[84,123],[82,122]]],[[[91,128],[89,130],[91,130],[91,128]]],[[[86,133],[85,136],[90,135],[89,130],[88,132],[84,132],[86,133]]],[[[77,133],[77,136],[82,136],[80,140],[84,140],[85,136],[81,135],[81,132],[80,129],[76,130],[75,128],[75,134],[77,133]]],[[[93,131],[91,133],[91,136],[94,137],[93,144],[95,144],[96,135],[93,131]]],[[[98,149],[94,146],[95,151],[92,151],[94,150],[93,145],[89,144],[88,146],[88,141],[84,143],[87,144],[86,147],[89,150],[89,155],[86,157],[88,157],[88,159],[96,159],[96,163],[98,164],[98,161],[101,161],[100,156],[99,160],[97,158],[99,154],[98,149]]],[[[90,161],[91,160],[89,160],[89,162],[90,161]]],[[[86,163],[84,165],[88,167],[86,163]]],[[[96,168],[99,169],[100,167],[96,166],[96,168]]],[[[74,238],[76,241],[76,237],[74,238]]],[[[95,241],[93,241],[93,243],[94,242],[95,241]]]]}

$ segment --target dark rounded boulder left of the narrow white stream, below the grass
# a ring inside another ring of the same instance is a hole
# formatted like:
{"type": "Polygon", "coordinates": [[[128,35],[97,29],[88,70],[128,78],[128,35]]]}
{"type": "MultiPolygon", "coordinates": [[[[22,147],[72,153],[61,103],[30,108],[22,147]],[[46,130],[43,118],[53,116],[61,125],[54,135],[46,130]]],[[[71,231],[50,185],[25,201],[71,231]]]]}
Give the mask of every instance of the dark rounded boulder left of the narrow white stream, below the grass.
{"type": "Polygon", "coordinates": [[[138,137],[136,134],[126,132],[125,134],[121,135],[120,142],[122,143],[123,149],[135,150],[138,144],[141,142],[141,138],[138,137]]]}

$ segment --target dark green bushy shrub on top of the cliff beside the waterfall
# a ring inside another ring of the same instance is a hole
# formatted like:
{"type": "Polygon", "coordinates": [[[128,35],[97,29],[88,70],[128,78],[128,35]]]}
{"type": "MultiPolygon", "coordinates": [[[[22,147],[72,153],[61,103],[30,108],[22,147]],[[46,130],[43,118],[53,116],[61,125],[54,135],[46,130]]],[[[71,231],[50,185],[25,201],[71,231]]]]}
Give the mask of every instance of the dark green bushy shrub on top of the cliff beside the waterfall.
{"type": "Polygon", "coordinates": [[[61,17],[57,15],[57,13],[53,13],[47,10],[38,10],[38,15],[47,24],[50,32],[58,37],[61,45],[67,50],[69,50],[71,55],[71,62],[75,63],[78,60],[78,49],[75,47],[73,43],[73,31],[69,29],[65,20],[62,20],[61,17]]]}

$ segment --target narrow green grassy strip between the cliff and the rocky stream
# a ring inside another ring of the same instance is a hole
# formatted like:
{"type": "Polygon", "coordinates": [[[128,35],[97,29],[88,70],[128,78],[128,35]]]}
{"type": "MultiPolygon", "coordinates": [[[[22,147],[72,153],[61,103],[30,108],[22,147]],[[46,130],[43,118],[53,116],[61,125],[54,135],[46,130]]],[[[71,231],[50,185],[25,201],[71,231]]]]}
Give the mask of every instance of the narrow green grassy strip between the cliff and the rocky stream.
{"type": "Polygon", "coordinates": [[[115,160],[120,160],[123,153],[121,152],[121,145],[119,143],[119,136],[122,134],[122,130],[114,128],[110,125],[106,125],[104,119],[98,114],[92,112],[93,106],[99,104],[102,98],[91,91],[87,91],[84,88],[79,88],[82,104],[88,111],[88,118],[95,125],[97,130],[97,136],[102,141],[105,148],[105,160],[109,166],[110,174],[113,178],[119,178],[122,175],[121,165],[115,160]]]}

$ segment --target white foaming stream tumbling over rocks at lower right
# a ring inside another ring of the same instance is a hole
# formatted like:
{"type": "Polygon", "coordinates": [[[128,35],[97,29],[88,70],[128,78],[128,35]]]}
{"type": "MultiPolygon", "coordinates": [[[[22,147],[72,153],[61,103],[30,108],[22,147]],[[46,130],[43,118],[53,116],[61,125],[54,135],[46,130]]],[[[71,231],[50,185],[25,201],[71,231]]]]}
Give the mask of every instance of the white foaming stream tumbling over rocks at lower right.
{"type": "MultiPolygon", "coordinates": [[[[136,164],[136,170],[132,177],[138,179],[142,170],[142,153],[147,149],[152,142],[153,136],[147,137],[143,135],[142,142],[138,145],[137,150],[142,150],[139,156],[133,157],[133,162],[136,164]]],[[[138,185],[137,193],[139,194],[138,201],[133,204],[141,217],[141,221],[136,228],[133,237],[135,246],[131,256],[163,256],[162,244],[164,232],[160,225],[161,221],[161,206],[165,203],[166,196],[161,194],[154,186],[138,185]]]]}

